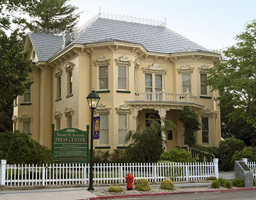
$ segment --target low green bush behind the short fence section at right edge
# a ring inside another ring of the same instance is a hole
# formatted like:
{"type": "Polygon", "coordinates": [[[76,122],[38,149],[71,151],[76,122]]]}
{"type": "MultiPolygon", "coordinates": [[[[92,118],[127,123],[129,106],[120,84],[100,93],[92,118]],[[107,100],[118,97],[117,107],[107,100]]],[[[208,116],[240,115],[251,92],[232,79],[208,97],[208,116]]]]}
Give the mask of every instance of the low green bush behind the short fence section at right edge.
{"type": "Polygon", "coordinates": [[[248,159],[249,162],[256,162],[256,148],[248,147],[243,151],[236,151],[232,156],[232,163],[234,161],[241,161],[243,158],[248,159]]]}

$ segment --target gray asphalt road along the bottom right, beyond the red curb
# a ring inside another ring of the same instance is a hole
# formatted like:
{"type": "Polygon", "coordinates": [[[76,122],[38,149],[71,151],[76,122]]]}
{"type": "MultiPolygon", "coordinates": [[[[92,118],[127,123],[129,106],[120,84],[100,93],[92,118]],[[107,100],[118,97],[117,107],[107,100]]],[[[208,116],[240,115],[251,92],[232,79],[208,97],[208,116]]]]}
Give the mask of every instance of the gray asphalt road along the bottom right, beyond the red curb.
{"type": "Polygon", "coordinates": [[[256,190],[247,190],[239,192],[223,192],[223,193],[202,193],[202,194],[180,194],[173,196],[154,196],[154,197],[139,197],[139,198],[127,198],[125,200],[232,200],[232,199],[246,199],[246,200],[255,200],[256,199],[256,190]]]}

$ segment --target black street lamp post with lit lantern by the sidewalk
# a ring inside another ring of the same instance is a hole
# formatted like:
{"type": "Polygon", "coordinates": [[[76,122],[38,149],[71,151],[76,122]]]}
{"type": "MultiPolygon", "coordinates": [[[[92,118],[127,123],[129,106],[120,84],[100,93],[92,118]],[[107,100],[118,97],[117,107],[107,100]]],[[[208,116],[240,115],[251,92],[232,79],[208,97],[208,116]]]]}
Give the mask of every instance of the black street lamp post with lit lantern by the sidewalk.
{"type": "Polygon", "coordinates": [[[92,112],[92,118],[91,118],[91,152],[90,152],[90,183],[89,183],[89,187],[87,190],[94,190],[93,189],[93,115],[94,115],[94,110],[95,108],[97,108],[97,104],[100,101],[100,97],[97,94],[97,92],[95,92],[94,90],[92,90],[92,92],[88,95],[88,97],[86,97],[90,110],[92,112]]]}

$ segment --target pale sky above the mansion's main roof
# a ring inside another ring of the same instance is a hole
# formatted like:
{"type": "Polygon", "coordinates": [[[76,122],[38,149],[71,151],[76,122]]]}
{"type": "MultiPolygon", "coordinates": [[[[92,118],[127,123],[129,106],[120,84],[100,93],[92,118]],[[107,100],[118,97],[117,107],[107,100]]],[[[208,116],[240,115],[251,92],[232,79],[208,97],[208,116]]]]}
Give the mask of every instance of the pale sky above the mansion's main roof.
{"type": "Polygon", "coordinates": [[[164,21],[166,27],[209,50],[225,49],[246,23],[256,19],[255,0],[70,0],[81,13],[79,25],[99,13],[164,21]]]}

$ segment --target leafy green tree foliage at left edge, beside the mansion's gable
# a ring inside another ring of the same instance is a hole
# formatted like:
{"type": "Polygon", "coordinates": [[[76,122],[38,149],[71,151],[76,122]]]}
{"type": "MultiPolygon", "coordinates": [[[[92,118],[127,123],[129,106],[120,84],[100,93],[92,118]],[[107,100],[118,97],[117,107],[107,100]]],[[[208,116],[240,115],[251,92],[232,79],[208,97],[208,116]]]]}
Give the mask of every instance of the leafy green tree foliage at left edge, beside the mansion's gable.
{"type": "Polygon", "coordinates": [[[0,105],[5,106],[29,88],[31,82],[26,80],[33,66],[17,30],[10,37],[0,30],[0,57],[0,105]]]}

